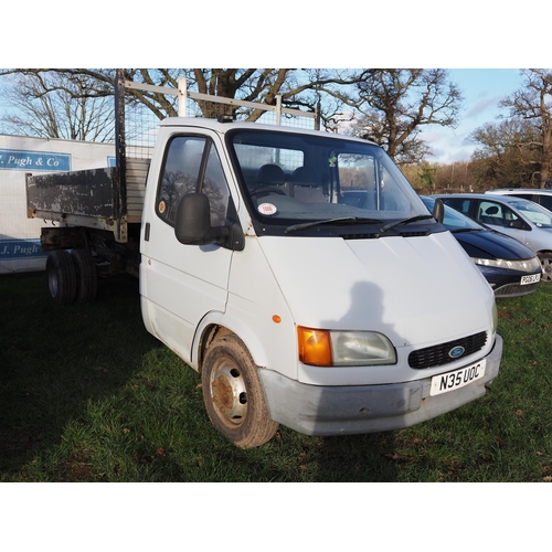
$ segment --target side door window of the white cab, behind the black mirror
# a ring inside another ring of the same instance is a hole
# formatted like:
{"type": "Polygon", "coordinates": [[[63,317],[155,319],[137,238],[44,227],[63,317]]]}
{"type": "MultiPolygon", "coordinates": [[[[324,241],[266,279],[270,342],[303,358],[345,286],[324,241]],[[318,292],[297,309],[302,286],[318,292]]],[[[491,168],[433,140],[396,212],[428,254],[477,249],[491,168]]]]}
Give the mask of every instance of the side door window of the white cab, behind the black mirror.
{"type": "Polygon", "coordinates": [[[214,145],[202,137],[177,136],[168,146],[161,169],[157,214],[173,226],[180,199],[192,192],[209,198],[211,224],[223,225],[230,193],[214,145]]]}

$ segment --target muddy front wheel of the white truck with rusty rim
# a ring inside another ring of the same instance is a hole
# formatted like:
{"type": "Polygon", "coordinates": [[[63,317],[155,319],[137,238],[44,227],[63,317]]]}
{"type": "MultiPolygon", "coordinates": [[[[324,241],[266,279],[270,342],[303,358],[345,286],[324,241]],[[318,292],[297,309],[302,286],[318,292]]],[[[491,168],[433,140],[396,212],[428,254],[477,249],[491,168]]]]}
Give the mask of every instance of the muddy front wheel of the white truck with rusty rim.
{"type": "Polygon", "coordinates": [[[258,368],[233,333],[209,347],[201,371],[203,401],[211,423],[240,448],[270,440],[279,424],[268,415],[258,368]]]}

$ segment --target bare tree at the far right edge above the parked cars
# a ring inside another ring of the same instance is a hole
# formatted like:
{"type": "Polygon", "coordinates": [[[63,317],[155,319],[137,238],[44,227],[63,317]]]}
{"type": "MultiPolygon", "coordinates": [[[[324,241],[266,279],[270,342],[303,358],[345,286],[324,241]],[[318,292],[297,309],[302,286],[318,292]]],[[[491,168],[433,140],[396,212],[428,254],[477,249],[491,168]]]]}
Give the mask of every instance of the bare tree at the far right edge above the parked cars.
{"type": "Polygon", "coordinates": [[[552,177],[552,72],[542,68],[522,70],[523,87],[500,103],[510,109],[512,117],[521,117],[531,121],[538,129],[537,141],[529,145],[541,148],[540,185],[544,187],[552,177]]]}

